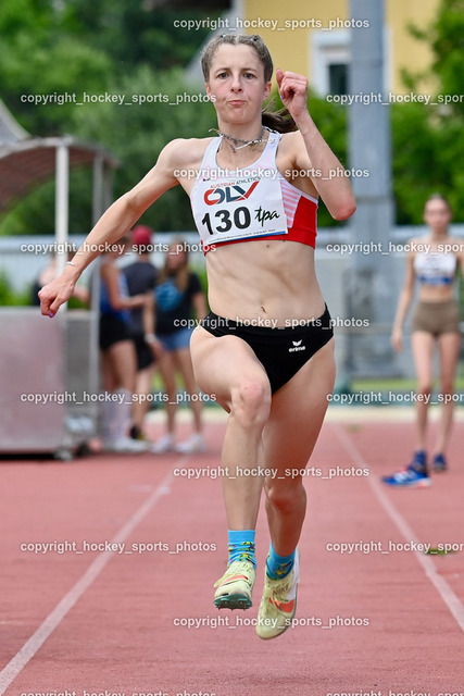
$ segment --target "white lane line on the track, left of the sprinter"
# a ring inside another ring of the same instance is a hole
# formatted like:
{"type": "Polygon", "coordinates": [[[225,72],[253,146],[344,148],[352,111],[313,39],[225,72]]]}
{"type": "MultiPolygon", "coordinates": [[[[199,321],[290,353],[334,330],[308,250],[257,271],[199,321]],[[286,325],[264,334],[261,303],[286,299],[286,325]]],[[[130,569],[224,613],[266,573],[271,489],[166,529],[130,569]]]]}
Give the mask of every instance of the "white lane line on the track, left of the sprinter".
{"type": "MultiPolygon", "coordinates": [[[[125,542],[135,527],[143,520],[150,510],[156,505],[159,499],[168,494],[170,483],[173,480],[173,471],[176,467],[185,465],[186,457],[181,457],[170,470],[155,490],[147,498],[147,500],[134,512],[127,522],[116,532],[111,543],[125,542]]],[[[47,638],[60,625],[64,617],[71,611],[76,601],[80,599],[84,593],[90,587],[95,580],[100,575],[103,568],[109,563],[116,551],[102,551],[95,561],[89,566],[84,575],[70,589],[63,599],[49,613],[43,623],[23,645],[21,650],[10,660],[10,662],[0,672],[0,696],[4,694],[10,684],[16,679],[20,672],[26,667],[27,662],[41,648],[47,638]]]]}

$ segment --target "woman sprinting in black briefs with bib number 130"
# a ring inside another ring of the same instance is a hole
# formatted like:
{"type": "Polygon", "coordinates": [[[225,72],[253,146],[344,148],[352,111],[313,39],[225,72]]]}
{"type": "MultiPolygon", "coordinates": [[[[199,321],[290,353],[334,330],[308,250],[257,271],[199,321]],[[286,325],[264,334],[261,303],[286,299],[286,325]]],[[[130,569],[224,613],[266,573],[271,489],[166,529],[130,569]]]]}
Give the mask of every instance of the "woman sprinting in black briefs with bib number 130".
{"type": "Polygon", "coordinates": [[[355,202],[349,177],[308,111],[305,77],[277,70],[290,121],[262,111],[273,63],[261,37],[214,37],[202,69],[217,138],[166,145],[40,299],[42,313],[53,316],[97,256],[92,249],[116,241],[168,188],[180,184],[191,196],[209,247],[212,310],[193,332],[191,357],[198,385],[229,414],[222,456],[229,563],[215,584],[214,604],[252,604],[264,489],[272,545],[256,633],[273,638],[294,614],[306,506],[302,471],[335,380],[333,325],[314,271],[317,199],[336,220],[349,217],[355,202]]]}

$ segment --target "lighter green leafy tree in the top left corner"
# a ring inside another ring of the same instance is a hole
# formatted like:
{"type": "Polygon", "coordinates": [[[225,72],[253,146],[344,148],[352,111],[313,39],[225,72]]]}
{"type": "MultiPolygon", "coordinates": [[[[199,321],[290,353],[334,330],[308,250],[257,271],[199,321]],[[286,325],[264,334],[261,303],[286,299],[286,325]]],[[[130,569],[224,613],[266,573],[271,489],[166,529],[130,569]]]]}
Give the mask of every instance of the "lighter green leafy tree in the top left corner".
{"type": "Polygon", "coordinates": [[[75,37],[68,4],[57,5],[51,0],[0,3],[1,97],[34,135],[66,132],[73,103],[60,103],[63,95],[104,89],[113,70],[103,51],[75,37]]]}

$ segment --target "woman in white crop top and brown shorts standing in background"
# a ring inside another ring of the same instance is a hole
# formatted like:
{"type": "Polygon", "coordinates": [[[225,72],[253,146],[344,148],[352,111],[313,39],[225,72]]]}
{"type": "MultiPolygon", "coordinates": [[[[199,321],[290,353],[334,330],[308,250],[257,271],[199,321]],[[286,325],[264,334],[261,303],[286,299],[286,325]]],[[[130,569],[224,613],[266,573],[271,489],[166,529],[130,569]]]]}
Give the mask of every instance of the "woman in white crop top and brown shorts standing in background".
{"type": "Polygon", "coordinates": [[[464,240],[450,237],[451,208],[446,198],[434,194],[425,203],[424,221],[430,232],[411,240],[404,286],[393,323],[392,344],[402,350],[402,325],[411,304],[414,286],[419,286],[413,327],[412,349],[417,375],[416,449],[413,461],[403,471],[386,476],[392,486],[425,486],[430,484],[427,462],[427,417],[432,389],[432,355],[435,343],[440,356],[441,419],[434,448],[432,469],[447,469],[446,451],[452,419],[454,377],[457,366],[461,334],[460,308],[454,298],[457,265],[464,268],[464,240]]]}

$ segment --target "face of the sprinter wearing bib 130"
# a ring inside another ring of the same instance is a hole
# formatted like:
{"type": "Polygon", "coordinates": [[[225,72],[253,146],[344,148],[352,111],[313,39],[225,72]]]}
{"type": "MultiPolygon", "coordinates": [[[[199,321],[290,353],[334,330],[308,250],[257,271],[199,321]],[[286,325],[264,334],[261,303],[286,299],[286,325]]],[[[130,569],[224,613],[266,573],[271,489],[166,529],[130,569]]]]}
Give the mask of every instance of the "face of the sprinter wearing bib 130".
{"type": "Polygon", "coordinates": [[[225,121],[243,123],[261,114],[271,83],[264,82],[264,67],[249,46],[223,44],[213,57],[206,94],[217,115],[225,121]]]}

